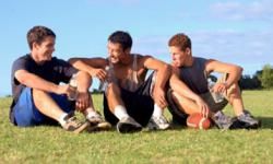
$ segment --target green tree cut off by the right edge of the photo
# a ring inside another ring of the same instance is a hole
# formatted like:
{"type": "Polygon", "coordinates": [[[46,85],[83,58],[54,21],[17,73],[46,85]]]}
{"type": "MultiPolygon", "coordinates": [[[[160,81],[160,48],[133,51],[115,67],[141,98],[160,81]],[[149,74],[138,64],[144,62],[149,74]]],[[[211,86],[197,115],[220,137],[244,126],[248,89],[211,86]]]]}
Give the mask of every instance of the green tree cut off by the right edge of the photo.
{"type": "Polygon", "coordinates": [[[273,89],[273,67],[271,65],[265,65],[263,67],[259,80],[262,82],[264,89],[273,89]]]}

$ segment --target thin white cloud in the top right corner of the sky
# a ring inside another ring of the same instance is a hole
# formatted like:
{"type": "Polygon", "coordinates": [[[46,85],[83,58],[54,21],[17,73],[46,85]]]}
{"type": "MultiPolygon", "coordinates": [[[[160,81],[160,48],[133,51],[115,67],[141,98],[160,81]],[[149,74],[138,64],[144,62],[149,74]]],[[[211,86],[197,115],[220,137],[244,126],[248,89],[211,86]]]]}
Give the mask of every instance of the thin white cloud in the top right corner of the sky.
{"type": "Polygon", "coordinates": [[[273,21],[273,1],[217,2],[210,7],[213,16],[232,21],[273,21]]]}

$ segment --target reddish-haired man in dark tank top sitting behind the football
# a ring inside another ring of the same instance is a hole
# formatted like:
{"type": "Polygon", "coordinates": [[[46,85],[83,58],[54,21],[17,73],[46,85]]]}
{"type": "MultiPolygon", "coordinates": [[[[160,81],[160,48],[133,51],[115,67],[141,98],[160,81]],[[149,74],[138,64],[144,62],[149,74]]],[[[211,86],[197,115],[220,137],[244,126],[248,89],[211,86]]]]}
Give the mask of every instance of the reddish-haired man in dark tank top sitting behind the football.
{"type": "Polygon", "coordinates": [[[202,113],[204,117],[211,117],[216,126],[223,129],[260,126],[260,122],[244,106],[238,86],[241,67],[214,59],[193,57],[191,40],[185,34],[174,35],[168,46],[174,68],[168,102],[176,121],[182,122],[187,115],[202,113]],[[212,72],[227,75],[209,90],[207,77],[212,72]],[[236,119],[233,119],[235,121],[222,113],[228,102],[236,115],[236,119]]]}

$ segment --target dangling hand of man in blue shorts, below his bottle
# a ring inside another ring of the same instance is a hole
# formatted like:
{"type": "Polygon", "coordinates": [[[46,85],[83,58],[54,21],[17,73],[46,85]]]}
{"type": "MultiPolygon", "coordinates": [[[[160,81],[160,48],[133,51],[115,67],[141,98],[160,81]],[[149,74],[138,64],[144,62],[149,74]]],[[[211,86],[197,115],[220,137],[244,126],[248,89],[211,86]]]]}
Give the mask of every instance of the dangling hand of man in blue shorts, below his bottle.
{"type": "Polygon", "coordinates": [[[86,109],[90,106],[91,97],[88,92],[78,92],[75,106],[80,112],[86,109]]]}

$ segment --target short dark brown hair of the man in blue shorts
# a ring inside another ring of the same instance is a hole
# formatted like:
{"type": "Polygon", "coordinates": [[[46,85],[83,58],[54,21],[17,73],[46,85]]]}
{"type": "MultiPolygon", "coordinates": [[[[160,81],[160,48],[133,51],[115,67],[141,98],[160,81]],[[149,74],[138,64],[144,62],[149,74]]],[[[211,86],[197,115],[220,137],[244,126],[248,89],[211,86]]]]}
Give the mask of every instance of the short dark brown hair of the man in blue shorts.
{"type": "Polygon", "coordinates": [[[33,47],[32,47],[33,43],[41,44],[41,42],[47,36],[52,36],[54,38],[56,38],[55,33],[46,26],[37,25],[37,26],[32,27],[27,32],[27,35],[26,35],[29,48],[33,49],[33,47]]]}

